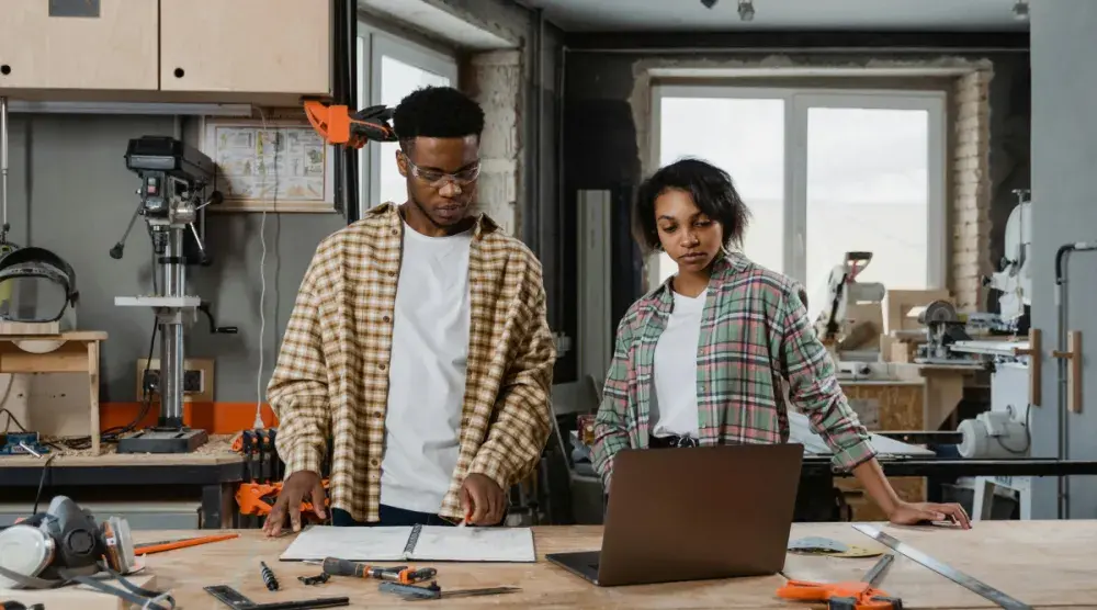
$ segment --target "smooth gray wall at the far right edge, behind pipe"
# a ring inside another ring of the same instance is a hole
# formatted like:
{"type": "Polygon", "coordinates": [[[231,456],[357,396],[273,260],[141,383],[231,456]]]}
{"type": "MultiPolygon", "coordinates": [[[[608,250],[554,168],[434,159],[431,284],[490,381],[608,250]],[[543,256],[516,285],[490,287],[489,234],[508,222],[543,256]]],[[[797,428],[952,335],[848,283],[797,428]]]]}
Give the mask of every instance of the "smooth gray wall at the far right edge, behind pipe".
{"type": "MultiPolygon", "coordinates": [[[[1044,353],[1055,349],[1059,323],[1054,294],[1055,251],[1066,242],[1097,239],[1097,2],[1037,0],[1032,2],[1032,325],[1047,337],[1044,353]]],[[[1097,252],[1082,252],[1070,262],[1068,328],[1081,330],[1084,407],[1070,414],[1068,458],[1097,460],[1097,252]]],[[[1056,360],[1044,358],[1043,400],[1032,416],[1032,447],[1038,455],[1058,449],[1055,413],[1056,360]]],[[[1071,518],[1097,518],[1094,477],[1072,477],[1071,518]]],[[[1039,479],[1033,518],[1054,518],[1055,481],[1039,479]]]]}

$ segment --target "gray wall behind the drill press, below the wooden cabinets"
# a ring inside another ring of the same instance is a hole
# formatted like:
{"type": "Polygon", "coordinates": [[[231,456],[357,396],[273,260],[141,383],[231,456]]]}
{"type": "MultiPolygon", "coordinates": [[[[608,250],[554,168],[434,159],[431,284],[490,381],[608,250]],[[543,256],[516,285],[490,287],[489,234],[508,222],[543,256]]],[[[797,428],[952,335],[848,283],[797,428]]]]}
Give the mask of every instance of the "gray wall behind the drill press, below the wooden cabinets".
{"type": "MultiPolygon", "coordinates": [[[[109,334],[102,352],[104,402],[135,399],[136,362],[147,353],[154,319],[151,312],[114,306],[115,296],[148,294],[151,287],[144,223],[135,225],[122,260],[108,255],[137,206],[137,177],[123,155],[129,138],[174,133],[170,116],[11,115],[11,239],[54,250],[76,270],[79,326],[109,334]]],[[[211,336],[200,318],[189,332],[189,355],[216,359],[219,402],[257,396],[260,216],[211,214],[214,264],[190,272],[191,293],[212,302],[217,323],[239,327],[235,336],[211,336]]],[[[319,240],[344,225],[333,213],[267,216],[263,388],[305,267],[319,240]]]]}

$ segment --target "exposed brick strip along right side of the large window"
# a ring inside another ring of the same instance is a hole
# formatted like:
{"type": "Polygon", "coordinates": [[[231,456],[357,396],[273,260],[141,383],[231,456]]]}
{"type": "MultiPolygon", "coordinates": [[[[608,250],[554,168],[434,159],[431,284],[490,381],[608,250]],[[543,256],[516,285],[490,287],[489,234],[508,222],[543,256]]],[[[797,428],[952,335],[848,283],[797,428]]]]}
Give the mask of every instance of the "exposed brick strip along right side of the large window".
{"type": "Polygon", "coordinates": [[[983,275],[992,271],[989,69],[955,80],[952,101],[952,189],[949,221],[952,251],[948,287],[957,309],[985,307],[983,275]]]}

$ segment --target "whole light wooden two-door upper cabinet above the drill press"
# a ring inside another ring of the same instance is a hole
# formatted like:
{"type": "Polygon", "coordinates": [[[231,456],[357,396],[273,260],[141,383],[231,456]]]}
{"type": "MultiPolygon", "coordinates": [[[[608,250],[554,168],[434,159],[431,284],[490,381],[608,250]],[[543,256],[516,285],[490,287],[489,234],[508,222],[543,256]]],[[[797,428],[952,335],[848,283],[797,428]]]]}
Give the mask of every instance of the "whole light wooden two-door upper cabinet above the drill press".
{"type": "Polygon", "coordinates": [[[327,95],[332,23],[331,0],[0,0],[0,93],[327,95]]]}

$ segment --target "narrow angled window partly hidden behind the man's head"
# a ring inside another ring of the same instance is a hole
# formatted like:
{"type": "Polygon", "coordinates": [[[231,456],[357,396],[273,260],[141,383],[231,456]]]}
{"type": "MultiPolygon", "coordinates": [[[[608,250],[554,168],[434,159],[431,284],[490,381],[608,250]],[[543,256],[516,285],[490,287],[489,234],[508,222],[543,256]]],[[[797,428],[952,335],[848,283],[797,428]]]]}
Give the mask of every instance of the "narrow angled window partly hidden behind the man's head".
{"type": "MultiPolygon", "coordinates": [[[[417,45],[359,22],[359,106],[395,108],[405,95],[428,86],[456,86],[454,57],[417,45]]],[[[396,143],[371,142],[362,147],[361,210],[385,202],[404,203],[407,184],[396,167],[396,143]]]]}

